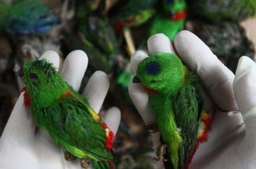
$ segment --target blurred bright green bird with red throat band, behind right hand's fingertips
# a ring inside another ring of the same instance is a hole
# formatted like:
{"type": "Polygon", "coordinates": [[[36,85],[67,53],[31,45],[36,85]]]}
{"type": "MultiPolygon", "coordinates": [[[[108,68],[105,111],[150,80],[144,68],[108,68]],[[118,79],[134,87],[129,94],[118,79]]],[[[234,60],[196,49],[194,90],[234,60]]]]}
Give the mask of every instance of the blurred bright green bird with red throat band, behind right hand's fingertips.
{"type": "Polygon", "coordinates": [[[184,27],[186,9],[185,0],[163,0],[163,14],[153,20],[149,35],[163,33],[173,40],[184,27]]]}

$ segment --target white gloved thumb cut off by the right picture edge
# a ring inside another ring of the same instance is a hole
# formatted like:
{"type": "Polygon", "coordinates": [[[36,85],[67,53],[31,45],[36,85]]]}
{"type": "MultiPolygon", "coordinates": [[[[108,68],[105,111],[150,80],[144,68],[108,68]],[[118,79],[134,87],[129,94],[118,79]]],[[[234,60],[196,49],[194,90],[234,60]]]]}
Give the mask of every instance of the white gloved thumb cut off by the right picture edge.
{"type": "Polygon", "coordinates": [[[256,107],[256,64],[249,57],[239,59],[233,87],[241,113],[256,107]]]}

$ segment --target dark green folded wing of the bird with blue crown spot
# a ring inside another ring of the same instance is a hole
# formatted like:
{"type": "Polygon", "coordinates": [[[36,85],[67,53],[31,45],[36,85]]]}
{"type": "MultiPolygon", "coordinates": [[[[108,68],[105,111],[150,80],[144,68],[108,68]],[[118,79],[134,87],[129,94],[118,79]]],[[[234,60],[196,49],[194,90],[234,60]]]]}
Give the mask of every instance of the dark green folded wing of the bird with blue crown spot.
{"type": "Polygon", "coordinates": [[[184,167],[189,154],[194,149],[198,136],[203,101],[200,91],[202,86],[197,75],[186,71],[185,84],[177,94],[174,109],[177,127],[181,130],[180,165],[184,167]]]}

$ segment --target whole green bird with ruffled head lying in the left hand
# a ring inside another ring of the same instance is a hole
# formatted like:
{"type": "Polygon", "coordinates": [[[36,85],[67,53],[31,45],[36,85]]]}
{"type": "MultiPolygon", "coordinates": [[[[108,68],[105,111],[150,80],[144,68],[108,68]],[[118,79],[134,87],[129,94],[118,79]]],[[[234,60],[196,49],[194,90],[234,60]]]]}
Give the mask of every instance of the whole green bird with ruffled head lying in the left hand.
{"type": "Polygon", "coordinates": [[[89,158],[96,169],[114,169],[113,132],[52,63],[45,59],[27,62],[17,75],[24,81],[24,104],[38,128],[45,128],[56,143],[81,158],[82,167],[88,167],[89,158]]]}

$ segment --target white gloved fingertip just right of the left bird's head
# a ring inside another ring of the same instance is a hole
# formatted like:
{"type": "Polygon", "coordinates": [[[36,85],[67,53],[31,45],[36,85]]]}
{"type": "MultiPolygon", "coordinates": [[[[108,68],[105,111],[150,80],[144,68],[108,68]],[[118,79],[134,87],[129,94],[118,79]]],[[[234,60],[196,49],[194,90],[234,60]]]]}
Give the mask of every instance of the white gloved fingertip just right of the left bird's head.
{"type": "Polygon", "coordinates": [[[75,50],[67,55],[60,74],[75,90],[79,90],[88,65],[88,57],[84,51],[75,50]]]}

